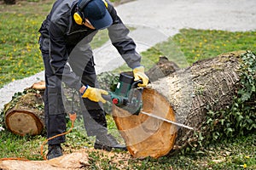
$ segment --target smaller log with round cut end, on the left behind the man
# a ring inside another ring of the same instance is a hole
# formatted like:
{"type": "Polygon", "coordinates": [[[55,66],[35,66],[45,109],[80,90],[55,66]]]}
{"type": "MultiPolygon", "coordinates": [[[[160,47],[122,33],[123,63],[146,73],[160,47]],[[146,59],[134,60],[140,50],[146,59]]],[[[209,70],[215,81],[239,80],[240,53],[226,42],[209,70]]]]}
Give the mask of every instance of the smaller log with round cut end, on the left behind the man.
{"type": "Polygon", "coordinates": [[[15,94],[9,104],[4,106],[6,127],[21,136],[40,134],[44,129],[44,82],[35,83],[24,92],[15,94]]]}

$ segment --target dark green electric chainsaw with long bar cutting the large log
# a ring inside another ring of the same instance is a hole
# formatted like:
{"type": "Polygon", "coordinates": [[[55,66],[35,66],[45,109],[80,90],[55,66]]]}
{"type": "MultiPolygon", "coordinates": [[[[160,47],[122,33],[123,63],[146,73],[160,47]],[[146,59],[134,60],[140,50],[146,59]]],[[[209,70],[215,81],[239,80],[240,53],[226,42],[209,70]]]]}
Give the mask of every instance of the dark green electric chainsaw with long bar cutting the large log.
{"type": "Polygon", "coordinates": [[[131,115],[143,115],[151,116],[164,122],[172,123],[178,127],[185,127],[193,130],[193,127],[183,125],[178,122],[172,122],[166,118],[149,114],[143,111],[143,88],[138,87],[139,83],[143,83],[142,80],[134,82],[134,77],[128,73],[122,72],[119,76],[119,82],[114,92],[108,92],[108,95],[103,95],[104,99],[111,101],[113,105],[117,105],[125,111],[129,111],[131,115]]]}

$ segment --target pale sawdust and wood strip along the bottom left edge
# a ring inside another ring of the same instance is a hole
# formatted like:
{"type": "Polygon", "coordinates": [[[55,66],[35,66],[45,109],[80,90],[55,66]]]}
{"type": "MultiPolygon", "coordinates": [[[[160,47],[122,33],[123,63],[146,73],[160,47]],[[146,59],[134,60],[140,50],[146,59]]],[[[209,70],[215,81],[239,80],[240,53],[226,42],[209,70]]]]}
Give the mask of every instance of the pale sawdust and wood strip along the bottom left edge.
{"type": "Polygon", "coordinates": [[[47,161],[18,161],[5,160],[0,161],[0,169],[19,169],[19,170],[66,170],[66,169],[86,169],[90,168],[90,161],[93,159],[90,155],[97,155],[101,159],[95,164],[101,169],[101,161],[108,160],[109,164],[115,164],[117,168],[123,169],[128,166],[128,161],[131,160],[129,152],[115,152],[94,149],[76,150],[71,154],[64,154],[64,156],[47,161]],[[120,163],[122,162],[122,163],[120,163]]]}

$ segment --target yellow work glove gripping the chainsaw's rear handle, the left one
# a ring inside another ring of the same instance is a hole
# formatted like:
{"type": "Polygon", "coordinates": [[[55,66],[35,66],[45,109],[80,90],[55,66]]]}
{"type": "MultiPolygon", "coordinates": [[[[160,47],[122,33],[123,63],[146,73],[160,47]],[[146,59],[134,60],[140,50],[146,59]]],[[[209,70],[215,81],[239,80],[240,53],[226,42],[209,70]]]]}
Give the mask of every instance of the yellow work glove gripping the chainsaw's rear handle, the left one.
{"type": "Polygon", "coordinates": [[[101,101],[104,104],[106,103],[106,100],[102,98],[102,94],[108,95],[108,92],[106,90],[87,86],[87,88],[84,90],[84,94],[82,94],[82,98],[88,98],[95,102],[101,101]]]}

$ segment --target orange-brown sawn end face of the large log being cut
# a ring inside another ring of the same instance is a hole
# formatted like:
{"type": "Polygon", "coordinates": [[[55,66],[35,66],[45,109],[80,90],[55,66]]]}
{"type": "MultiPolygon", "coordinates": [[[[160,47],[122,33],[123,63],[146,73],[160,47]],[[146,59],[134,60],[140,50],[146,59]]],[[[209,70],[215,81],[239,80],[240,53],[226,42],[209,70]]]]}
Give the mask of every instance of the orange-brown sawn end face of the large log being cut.
{"type": "MultiPolygon", "coordinates": [[[[150,88],[143,90],[143,111],[175,122],[172,106],[162,95],[150,88]]],[[[131,156],[159,158],[172,150],[177,137],[177,127],[171,123],[142,113],[134,116],[117,106],[113,106],[113,119],[131,156]]]]}

